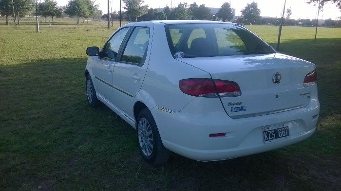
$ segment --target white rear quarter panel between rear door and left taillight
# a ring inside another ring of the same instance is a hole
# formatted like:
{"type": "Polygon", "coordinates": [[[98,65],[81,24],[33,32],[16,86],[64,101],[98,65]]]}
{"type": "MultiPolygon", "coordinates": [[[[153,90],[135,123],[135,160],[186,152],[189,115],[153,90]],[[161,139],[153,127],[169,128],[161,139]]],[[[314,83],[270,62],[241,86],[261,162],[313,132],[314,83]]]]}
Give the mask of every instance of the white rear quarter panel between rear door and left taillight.
{"type": "Polygon", "coordinates": [[[155,23],[149,66],[141,91],[148,92],[143,102],[150,109],[155,106],[178,112],[194,97],[181,92],[179,80],[186,78],[210,78],[208,72],[173,58],[163,23],[155,23]],[[150,101],[152,99],[153,101],[150,101]]]}

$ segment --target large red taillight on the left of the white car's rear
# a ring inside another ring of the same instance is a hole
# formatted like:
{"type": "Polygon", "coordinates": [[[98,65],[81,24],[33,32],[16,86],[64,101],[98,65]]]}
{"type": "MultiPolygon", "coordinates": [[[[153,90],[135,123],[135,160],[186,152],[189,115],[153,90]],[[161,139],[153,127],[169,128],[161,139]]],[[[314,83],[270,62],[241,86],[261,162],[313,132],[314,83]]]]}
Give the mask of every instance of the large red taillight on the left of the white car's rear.
{"type": "Polygon", "coordinates": [[[179,81],[180,90],[197,97],[232,97],[242,93],[237,83],[208,78],[191,78],[179,81]]]}

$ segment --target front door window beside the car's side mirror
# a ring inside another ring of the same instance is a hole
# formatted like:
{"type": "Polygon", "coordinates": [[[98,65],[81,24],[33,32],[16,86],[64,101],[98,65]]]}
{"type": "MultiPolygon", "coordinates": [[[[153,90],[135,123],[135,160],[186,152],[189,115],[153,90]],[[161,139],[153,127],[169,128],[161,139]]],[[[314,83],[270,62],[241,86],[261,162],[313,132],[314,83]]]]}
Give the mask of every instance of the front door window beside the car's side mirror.
{"type": "Polygon", "coordinates": [[[127,32],[129,31],[129,27],[123,28],[118,31],[105,45],[104,48],[104,57],[110,59],[116,59],[118,50],[123,42],[124,37],[126,36],[127,32]]]}

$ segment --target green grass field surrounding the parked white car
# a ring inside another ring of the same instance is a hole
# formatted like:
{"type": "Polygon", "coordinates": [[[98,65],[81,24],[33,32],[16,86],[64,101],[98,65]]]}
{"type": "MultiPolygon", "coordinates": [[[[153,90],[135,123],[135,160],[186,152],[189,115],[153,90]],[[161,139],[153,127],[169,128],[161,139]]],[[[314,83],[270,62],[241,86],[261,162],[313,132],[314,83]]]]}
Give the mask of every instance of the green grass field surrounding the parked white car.
{"type": "MultiPolygon", "coordinates": [[[[341,28],[284,26],[281,51],[317,65],[321,115],[316,133],[258,155],[198,162],[172,154],[142,160],[135,132],[85,96],[88,46],[114,30],[106,22],[0,20],[0,190],[259,190],[341,188],[341,28]],[[12,24],[12,23],[11,23],[12,24]]],[[[114,23],[117,28],[118,23],[114,23]]],[[[276,47],[278,26],[246,26],[276,47]]]]}

